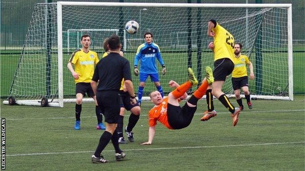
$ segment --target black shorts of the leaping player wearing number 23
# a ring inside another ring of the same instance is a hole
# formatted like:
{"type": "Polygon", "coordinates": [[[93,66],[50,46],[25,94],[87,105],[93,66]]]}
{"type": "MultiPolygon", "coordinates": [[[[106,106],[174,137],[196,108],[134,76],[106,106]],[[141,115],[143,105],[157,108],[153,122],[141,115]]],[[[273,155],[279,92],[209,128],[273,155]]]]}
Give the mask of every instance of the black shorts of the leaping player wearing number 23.
{"type": "Polygon", "coordinates": [[[213,76],[215,81],[225,81],[234,70],[234,63],[229,58],[217,59],[214,62],[213,76]]]}

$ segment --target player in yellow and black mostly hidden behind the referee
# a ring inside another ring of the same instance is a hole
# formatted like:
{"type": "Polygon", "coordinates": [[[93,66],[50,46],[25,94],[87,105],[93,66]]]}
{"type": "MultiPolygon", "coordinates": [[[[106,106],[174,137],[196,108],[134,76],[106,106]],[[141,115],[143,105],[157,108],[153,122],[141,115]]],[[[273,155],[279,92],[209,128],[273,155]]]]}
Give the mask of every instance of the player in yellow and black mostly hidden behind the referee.
{"type": "MultiPolygon", "coordinates": [[[[104,49],[105,49],[105,53],[103,55],[103,57],[108,56],[109,54],[109,48],[108,48],[108,42],[107,42],[108,38],[106,38],[104,40],[104,49]]],[[[123,57],[123,52],[120,51],[120,56],[123,57]]],[[[126,86],[124,84],[124,78],[122,79],[121,82],[121,87],[120,87],[120,96],[121,96],[121,101],[120,101],[120,115],[118,118],[118,123],[117,123],[117,127],[116,130],[118,132],[118,136],[119,136],[119,143],[120,144],[127,144],[127,141],[124,139],[123,136],[123,120],[124,120],[124,113],[125,113],[125,109],[127,111],[131,111],[131,115],[129,117],[129,122],[128,122],[128,126],[125,128],[125,132],[127,134],[128,140],[130,142],[134,142],[134,138],[133,138],[133,132],[132,129],[133,127],[136,125],[136,123],[139,120],[139,116],[141,113],[141,108],[139,106],[138,103],[131,105],[130,103],[130,95],[127,92],[126,86]],[[129,131],[127,131],[129,130],[129,131]]]]}

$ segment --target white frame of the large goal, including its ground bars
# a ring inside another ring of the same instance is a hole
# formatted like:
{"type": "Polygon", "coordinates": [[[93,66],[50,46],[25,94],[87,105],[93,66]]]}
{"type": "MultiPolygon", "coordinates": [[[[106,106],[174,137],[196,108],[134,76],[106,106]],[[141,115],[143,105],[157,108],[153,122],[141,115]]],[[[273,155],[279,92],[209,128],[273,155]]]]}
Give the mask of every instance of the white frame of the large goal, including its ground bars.
{"type": "MultiPolygon", "coordinates": [[[[75,1],[58,1],[57,3],[57,34],[58,34],[58,99],[54,99],[52,103],[48,103],[48,106],[64,107],[64,78],[63,78],[63,20],[62,20],[62,7],[71,6],[116,6],[116,7],[183,7],[183,8],[212,8],[212,7],[224,7],[224,8],[287,8],[287,60],[288,60],[288,90],[289,96],[267,96],[267,95],[251,95],[254,98],[262,99],[278,99],[278,100],[293,100],[293,56],[292,56],[292,5],[291,4],[238,4],[238,3],[133,3],[133,2],[75,2],[75,1]],[[54,103],[55,102],[55,103],[54,103]]],[[[124,37],[125,32],[124,32],[124,37]]],[[[124,48],[126,48],[126,39],[124,39],[124,48]]],[[[235,97],[235,95],[228,95],[229,97],[235,97]]],[[[148,97],[149,98],[149,97],[148,97]]],[[[93,100],[93,99],[92,99],[93,100]]],[[[18,100],[16,103],[25,105],[37,105],[33,100],[23,102],[25,100],[18,100]],[[19,103],[18,103],[19,101],[19,103]],[[35,104],[34,104],[35,103],[35,104]]],[[[4,104],[8,104],[8,101],[3,101],[4,104]]],[[[38,103],[40,106],[40,103],[38,103]]]]}

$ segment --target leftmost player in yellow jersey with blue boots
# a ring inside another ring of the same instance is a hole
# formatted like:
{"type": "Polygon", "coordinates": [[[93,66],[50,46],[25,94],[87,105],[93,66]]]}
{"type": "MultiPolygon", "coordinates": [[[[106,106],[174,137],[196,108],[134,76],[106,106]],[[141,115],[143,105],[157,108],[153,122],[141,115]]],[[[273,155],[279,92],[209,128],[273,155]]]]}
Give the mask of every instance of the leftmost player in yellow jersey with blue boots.
{"type": "Polygon", "coordinates": [[[98,107],[96,97],[91,88],[90,82],[94,73],[94,65],[99,61],[98,55],[96,52],[90,51],[89,46],[91,44],[90,36],[83,35],[81,38],[82,49],[78,49],[73,52],[72,56],[68,62],[68,69],[72,73],[72,76],[75,80],[76,86],[76,104],[75,104],[75,130],[80,130],[81,123],[81,112],[82,112],[82,102],[84,95],[91,96],[94,99],[95,103],[95,113],[97,117],[97,126],[98,130],[105,130],[106,127],[103,124],[103,115],[101,109],[98,107]],[[73,69],[73,66],[75,70],[73,69]]]}

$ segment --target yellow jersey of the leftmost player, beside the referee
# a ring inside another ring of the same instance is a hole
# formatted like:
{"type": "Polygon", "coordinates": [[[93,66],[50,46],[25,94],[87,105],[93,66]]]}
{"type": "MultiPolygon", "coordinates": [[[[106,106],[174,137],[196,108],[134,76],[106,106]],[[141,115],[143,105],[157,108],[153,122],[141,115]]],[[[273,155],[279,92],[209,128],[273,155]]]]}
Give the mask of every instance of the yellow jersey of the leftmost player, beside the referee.
{"type": "Polygon", "coordinates": [[[74,64],[74,70],[79,74],[79,79],[75,80],[75,84],[79,82],[91,82],[94,65],[99,61],[96,52],[90,51],[85,53],[82,49],[73,52],[69,62],[74,64]]]}

